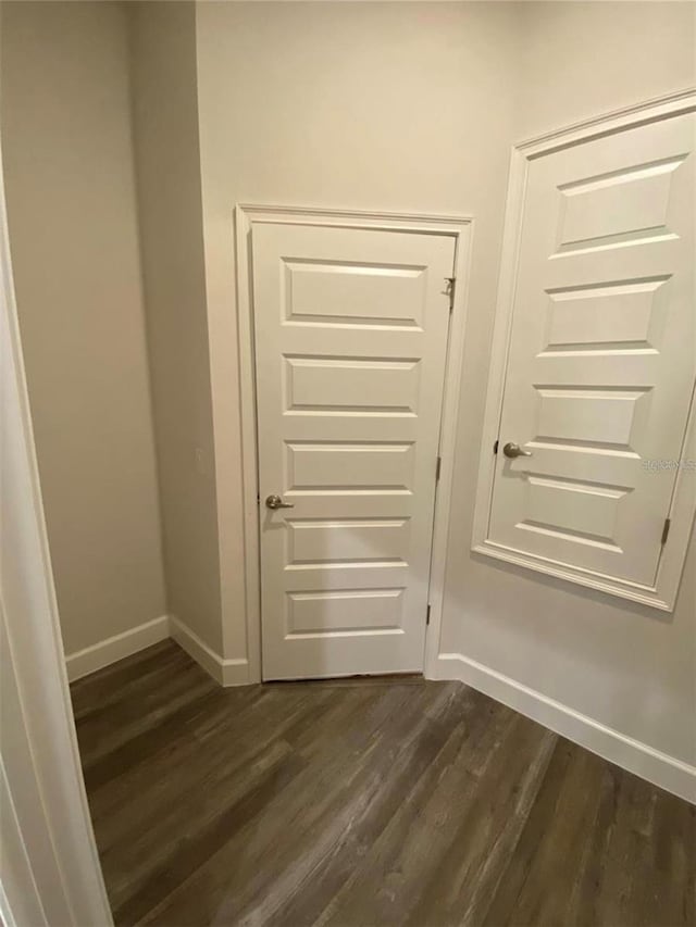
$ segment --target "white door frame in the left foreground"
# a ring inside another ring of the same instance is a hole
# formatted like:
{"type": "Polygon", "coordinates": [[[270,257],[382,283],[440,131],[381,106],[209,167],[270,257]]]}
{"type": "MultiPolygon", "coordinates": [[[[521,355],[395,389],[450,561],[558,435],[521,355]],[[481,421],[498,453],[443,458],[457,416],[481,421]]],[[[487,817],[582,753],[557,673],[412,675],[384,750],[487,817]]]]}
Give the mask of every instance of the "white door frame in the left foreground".
{"type": "Polygon", "coordinates": [[[0,825],[5,847],[0,914],[8,927],[109,927],[113,919],[77,750],[46,535],[1,173],[0,278],[0,825]]]}

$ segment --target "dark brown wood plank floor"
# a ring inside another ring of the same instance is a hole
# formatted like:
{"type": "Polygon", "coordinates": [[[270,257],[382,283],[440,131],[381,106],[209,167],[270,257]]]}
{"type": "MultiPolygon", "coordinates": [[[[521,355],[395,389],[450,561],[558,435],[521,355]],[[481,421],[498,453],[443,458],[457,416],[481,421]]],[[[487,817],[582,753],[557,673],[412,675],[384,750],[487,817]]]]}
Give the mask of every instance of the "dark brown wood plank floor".
{"type": "Polygon", "coordinates": [[[72,687],[116,924],[696,923],[696,809],[459,682],[72,687]]]}

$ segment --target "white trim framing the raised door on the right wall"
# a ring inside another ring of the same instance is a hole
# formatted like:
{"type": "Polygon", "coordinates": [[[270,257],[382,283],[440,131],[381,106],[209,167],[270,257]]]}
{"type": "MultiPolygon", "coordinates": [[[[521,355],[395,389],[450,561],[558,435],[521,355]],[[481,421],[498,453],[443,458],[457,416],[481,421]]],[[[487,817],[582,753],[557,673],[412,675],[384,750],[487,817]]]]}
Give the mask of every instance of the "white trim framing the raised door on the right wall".
{"type": "MultiPolygon", "coordinates": [[[[508,204],[472,536],[472,550],[475,553],[504,560],[517,566],[556,576],[559,579],[586,586],[599,592],[618,596],[668,612],[674,609],[688,538],[696,514],[696,486],[692,474],[687,475],[685,469],[681,469],[676,477],[672,503],[669,513],[667,513],[672,522],[670,535],[662,549],[656,584],[651,587],[627,582],[613,576],[594,574],[570,564],[556,563],[526,551],[496,544],[488,539],[488,518],[496,460],[493,446],[499,438],[502,413],[529,162],[561,148],[587,141],[591,138],[681,115],[692,112],[695,108],[696,90],[683,90],[659,100],[650,100],[625,110],[597,116],[513,147],[510,159],[508,204]]],[[[692,403],[686,426],[683,456],[685,459],[696,456],[696,408],[694,403],[692,403]]]]}

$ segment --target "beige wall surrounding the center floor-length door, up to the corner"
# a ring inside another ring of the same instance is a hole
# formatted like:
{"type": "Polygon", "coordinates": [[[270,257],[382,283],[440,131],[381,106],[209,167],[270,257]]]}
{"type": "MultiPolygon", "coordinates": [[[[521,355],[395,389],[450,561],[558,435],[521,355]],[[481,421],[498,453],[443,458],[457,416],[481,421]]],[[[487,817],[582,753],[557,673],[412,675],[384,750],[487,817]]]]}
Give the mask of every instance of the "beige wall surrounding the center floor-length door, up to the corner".
{"type": "MultiPolygon", "coordinates": [[[[517,4],[507,3],[198,5],[228,657],[246,653],[234,205],[475,215],[471,330],[480,349],[495,303],[518,23],[517,4]],[[224,353],[215,351],[220,345],[224,353]]],[[[467,396],[476,376],[481,372],[468,367],[467,396]]]]}

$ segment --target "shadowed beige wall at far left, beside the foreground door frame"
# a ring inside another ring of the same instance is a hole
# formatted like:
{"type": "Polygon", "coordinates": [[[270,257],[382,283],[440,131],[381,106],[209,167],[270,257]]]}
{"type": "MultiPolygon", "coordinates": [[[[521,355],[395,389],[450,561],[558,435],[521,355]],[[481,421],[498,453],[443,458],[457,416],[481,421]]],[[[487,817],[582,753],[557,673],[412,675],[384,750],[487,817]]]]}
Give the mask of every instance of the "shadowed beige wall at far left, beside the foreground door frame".
{"type": "Polygon", "coordinates": [[[128,104],[112,3],[3,2],[14,278],[67,653],[165,611],[128,104]]]}

